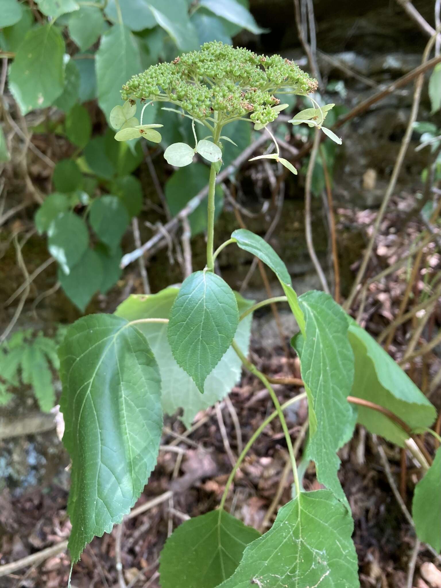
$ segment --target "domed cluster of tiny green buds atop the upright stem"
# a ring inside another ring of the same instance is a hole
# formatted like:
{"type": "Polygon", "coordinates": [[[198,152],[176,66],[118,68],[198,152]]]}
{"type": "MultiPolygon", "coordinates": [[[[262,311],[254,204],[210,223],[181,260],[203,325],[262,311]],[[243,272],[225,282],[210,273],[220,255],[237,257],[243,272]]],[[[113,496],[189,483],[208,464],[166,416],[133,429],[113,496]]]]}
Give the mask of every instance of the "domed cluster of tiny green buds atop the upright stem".
{"type": "Polygon", "coordinates": [[[217,111],[224,122],[250,115],[253,122],[266,124],[278,115],[272,108],[280,102],[274,93],[306,95],[316,88],[316,80],[289,59],[212,41],[132,76],[121,95],[123,100],[172,102],[199,120],[217,111]]]}

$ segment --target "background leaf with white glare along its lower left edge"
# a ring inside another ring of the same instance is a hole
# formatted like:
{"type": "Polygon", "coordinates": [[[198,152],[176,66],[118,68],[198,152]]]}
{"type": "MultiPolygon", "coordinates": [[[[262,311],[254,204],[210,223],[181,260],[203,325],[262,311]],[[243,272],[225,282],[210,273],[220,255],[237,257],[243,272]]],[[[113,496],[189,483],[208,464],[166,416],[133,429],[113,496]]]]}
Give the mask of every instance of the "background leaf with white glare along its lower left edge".
{"type": "Polygon", "coordinates": [[[89,233],[86,223],[74,212],[62,212],[49,225],[49,253],[66,274],[82,258],[88,244],[89,233]]]}

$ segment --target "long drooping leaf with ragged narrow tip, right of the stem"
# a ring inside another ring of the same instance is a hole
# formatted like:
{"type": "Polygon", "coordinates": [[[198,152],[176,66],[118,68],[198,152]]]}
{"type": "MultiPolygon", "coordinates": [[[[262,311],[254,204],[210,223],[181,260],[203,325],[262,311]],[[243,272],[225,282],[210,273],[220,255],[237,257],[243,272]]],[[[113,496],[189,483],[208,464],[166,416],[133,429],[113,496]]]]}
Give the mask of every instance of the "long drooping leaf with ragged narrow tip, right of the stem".
{"type": "Polygon", "coordinates": [[[353,383],[354,358],[343,309],[325,292],[312,290],[299,298],[306,336],[293,338],[308,393],[308,456],[318,480],[345,501],[337,472],[337,450],[352,436],[355,414],[347,397],[353,383]]]}

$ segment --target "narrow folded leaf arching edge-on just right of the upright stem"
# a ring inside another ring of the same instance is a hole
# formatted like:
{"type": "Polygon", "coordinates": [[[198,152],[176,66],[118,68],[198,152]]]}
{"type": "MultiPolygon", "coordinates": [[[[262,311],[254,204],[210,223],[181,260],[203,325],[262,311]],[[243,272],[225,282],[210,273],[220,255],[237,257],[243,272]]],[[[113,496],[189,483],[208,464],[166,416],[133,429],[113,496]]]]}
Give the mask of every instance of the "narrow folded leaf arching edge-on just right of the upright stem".
{"type": "Polygon", "coordinates": [[[303,313],[300,309],[295,290],[292,288],[290,275],[285,263],[279,258],[272,246],[265,239],[262,239],[262,237],[255,235],[247,229],[236,229],[232,232],[231,238],[236,239],[236,243],[240,249],[252,253],[273,270],[279,279],[286,298],[288,298],[289,308],[295,316],[300,331],[305,333],[305,319],[303,319],[303,313]]]}

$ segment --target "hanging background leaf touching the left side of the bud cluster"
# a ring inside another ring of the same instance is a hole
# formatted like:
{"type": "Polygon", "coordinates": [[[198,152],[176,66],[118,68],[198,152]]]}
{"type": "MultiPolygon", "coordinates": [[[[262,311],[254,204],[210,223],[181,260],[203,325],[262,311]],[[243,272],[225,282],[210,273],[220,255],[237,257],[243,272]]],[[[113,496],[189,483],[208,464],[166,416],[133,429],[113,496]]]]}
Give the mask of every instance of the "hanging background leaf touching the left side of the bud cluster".
{"type": "Polygon", "coordinates": [[[113,106],[121,101],[119,90],[123,83],[142,69],[138,44],[126,26],[113,25],[102,35],[95,68],[98,103],[109,118],[113,106]]]}

